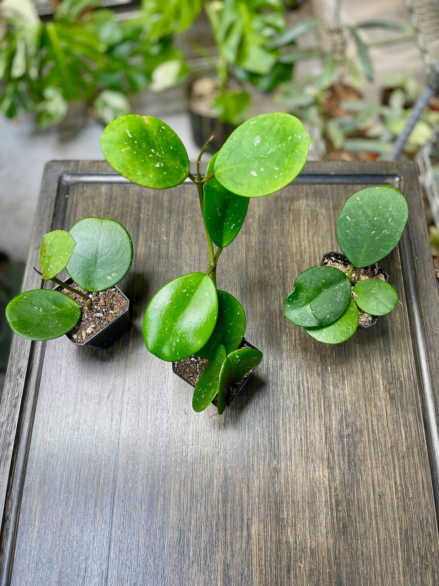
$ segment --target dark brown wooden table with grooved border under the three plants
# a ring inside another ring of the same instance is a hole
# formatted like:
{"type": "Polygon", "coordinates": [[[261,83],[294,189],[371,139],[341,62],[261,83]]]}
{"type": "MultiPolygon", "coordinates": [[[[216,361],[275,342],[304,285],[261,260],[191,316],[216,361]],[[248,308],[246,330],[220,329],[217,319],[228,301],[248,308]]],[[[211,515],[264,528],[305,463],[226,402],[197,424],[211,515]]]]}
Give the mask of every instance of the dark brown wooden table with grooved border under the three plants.
{"type": "Polygon", "coordinates": [[[165,282],[205,270],[196,188],[132,185],[104,162],[44,172],[40,239],[84,216],[132,235],[131,332],[106,352],[15,338],[0,412],[1,585],[287,586],[439,583],[439,299],[411,163],[308,163],[252,200],[218,287],[243,304],[264,360],[223,417],[146,350],[165,282]],[[299,272],[337,250],[348,196],[395,185],[409,202],[383,267],[401,303],[347,343],[283,316],[299,272]]]}

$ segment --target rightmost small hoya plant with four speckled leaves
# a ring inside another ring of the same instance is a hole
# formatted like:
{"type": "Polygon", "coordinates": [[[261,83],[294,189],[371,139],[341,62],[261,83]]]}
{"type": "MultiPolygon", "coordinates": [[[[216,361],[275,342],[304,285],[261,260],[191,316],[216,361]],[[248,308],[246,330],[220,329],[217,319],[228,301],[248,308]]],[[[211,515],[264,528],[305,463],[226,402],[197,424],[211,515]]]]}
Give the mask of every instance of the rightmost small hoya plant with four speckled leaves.
{"type": "Polygon", "coordinates": [[[345,258],[328,253],[322,265],[302,272],[285,299],[284,315],[319,342],[338,344],[355,333],[358,309],[369,318],[393,311],[397,293],[375,263],[399,243],[408,217],[406,199],[395,188],[354,193],[337,220],[337,240],[345,258]]]}

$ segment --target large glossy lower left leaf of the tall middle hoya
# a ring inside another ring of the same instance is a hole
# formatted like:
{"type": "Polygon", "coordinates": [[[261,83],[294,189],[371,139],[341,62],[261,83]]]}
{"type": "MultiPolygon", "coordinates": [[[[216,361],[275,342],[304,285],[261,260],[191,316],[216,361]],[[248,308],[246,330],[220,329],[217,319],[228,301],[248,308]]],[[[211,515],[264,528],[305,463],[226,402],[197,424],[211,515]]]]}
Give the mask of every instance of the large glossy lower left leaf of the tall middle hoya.
{"type": "Polygon", "coordinates": [[[143,339],[162,360],[197,354],[210,338],[218,315],[217,289],[204,272],[191,272],[157,291],[143,319],[143,339]]]}

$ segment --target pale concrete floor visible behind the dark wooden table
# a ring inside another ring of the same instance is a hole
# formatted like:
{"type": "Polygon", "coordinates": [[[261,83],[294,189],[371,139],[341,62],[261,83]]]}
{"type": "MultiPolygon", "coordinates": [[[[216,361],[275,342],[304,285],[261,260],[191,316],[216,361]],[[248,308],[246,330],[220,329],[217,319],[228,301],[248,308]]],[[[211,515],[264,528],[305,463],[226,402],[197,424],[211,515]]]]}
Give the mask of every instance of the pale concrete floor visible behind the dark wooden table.
{"type": "MultiPolygon", "coordinates": [[[[290,20],[299,21],[314,12],[331,22],[334,2],[311,0],[300,11],[291,12],[290,20]]],[[[378,18],[410,21],[403,0],[345,0],[342,4],[342,18],[348,24],[378,18]]],[[[368,30],[366,36],[373,41],[382,39],[383,34],[389,33],[368,30]]],[[[315,38],[312,35],[301,39],[302,45],[313,43],[315,38]]],[[[353,47],[349,50],[355,54],[353,47]]],[[[425,79],[423,62],[414,39],[399,45],[376,47],[372,49],[372,58],[378,81],[389,71],[396,70],[414,73],[420,81],[425,79]]],[[[318,62],[301,64],[296,73],[300,77],[309,74],[311,67],[318,66],[318,62]]],[[[368,98],[378,97],[377,83],[365,83],[362,90],[368,98]]],[[[181,137],[189,158],[195,160],[198,149],[191,137],[188,115],[184,111],[183,90],[173,88],[165,96],[153,96],[152,103],[149,98],[151,96],[148,95],[136,98],[133,110],[162,118],[181,137]]],[[[57,128],[36,130],[32,116],[20,122],[0,118],[0,251],[5,251],[14,260],[26,260],[44,164],[53,159],[103,159],[101,133],[102,125],[91,117],[86,118],[82,130],[69,139],[65,136],[61,139],[60,129],[57,128]]]]}

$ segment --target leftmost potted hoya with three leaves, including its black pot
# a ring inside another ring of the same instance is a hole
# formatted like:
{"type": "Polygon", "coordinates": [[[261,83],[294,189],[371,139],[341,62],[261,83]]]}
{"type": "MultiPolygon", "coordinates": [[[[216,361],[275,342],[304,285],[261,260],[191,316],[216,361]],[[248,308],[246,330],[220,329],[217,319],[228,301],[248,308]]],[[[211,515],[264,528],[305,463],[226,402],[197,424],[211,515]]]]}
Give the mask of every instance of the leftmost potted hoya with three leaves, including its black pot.
{"type": "Polygon", "coordinates": [[[30,340],[64,334],[77,346],[104,350],[131,325],[129,301],[116,287],[133,258],[131,237],[114,220],[88,217],[71,228],[44,234],[40,265],[53,289],[32,289],[6,306],[15,333],[30,340]],[[66,269],[70,278],[56,275],[66,269]]]}

